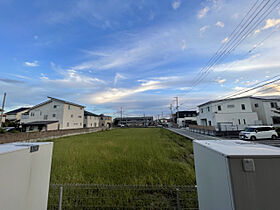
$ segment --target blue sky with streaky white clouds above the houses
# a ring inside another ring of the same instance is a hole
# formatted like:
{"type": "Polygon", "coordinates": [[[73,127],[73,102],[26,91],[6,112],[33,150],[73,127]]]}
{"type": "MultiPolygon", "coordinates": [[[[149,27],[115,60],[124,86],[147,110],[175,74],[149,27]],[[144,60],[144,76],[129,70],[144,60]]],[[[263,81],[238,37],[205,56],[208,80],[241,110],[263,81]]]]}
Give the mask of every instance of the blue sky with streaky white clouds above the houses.
{"type": "Polygon", "coordinates": [[[192,88],[255,1],[0,0],[6,110],[51,96],[113,117],[121,107],[124,116],[168,116],[175,96],[180,110],[195,109],[273,78],[280,74],[279,8],[192,88]]]}

